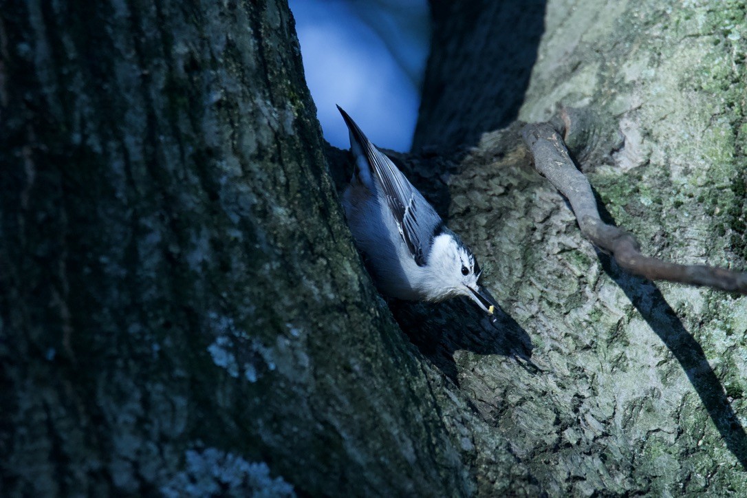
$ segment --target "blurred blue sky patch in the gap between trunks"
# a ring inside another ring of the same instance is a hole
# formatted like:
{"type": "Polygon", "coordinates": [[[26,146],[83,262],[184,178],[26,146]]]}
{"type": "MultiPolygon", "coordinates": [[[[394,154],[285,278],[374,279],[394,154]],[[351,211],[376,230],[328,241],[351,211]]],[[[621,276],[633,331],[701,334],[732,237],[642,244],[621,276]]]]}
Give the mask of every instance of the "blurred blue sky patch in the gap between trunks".
{"type": "Polygon", "coordinates": [[[347,149],[344,108],[377,146],[409,150],[428,55],[426,0],[290,0],[324,137],[347,149]]]}

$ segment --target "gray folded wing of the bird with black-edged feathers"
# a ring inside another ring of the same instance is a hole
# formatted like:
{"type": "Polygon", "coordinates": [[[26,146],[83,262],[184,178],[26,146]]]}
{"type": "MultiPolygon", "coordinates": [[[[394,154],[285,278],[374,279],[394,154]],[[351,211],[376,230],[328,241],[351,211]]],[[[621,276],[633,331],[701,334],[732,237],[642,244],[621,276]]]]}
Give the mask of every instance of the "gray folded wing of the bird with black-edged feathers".
{"type": "Polygon", "coordinates": [[[339,106],[338,109],[350,129],[351,140],[358,143],[373,170],[412,258],[415,258],[418,266],[425,266],[433,237],[441,230],[444,222],[397,166],[373,146],[356,122],[339,106]]]}

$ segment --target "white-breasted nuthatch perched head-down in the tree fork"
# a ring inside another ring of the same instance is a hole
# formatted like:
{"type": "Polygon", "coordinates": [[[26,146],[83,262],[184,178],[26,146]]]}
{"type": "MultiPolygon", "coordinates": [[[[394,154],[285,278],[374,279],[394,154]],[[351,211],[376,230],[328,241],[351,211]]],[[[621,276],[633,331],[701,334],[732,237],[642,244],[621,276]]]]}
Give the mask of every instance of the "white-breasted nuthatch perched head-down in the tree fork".
{"type": "Polygon", "coordinates": [[[338,106],[350,131],[356,171],[343,197],[347,224],[379,291],[409,301],[468,296],[495,323],[495,299],[459,235],[338,106]]]}

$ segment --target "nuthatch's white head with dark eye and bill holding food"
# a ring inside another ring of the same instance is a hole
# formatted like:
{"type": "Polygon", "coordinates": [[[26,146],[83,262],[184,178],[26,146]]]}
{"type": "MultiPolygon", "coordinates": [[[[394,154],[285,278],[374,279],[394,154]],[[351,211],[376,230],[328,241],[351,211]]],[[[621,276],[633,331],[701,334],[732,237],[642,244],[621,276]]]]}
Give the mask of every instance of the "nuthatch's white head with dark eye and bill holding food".
{"type": "Polygon", "coordinates": [[[427,288],[432,301],[454,296],[468,296],[487,314],[492,315],[498,304],[485,287],[481,287],[480,265],[459,235],[443,228],[433,238],[427,259],[429,282],[427,288]]]}

